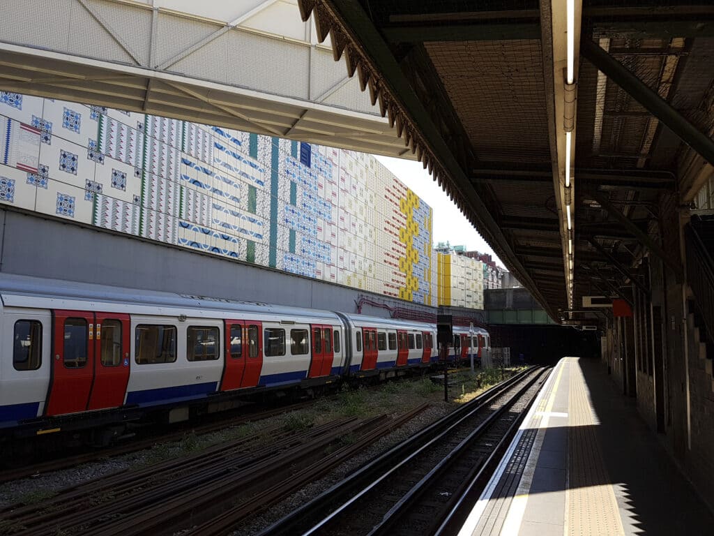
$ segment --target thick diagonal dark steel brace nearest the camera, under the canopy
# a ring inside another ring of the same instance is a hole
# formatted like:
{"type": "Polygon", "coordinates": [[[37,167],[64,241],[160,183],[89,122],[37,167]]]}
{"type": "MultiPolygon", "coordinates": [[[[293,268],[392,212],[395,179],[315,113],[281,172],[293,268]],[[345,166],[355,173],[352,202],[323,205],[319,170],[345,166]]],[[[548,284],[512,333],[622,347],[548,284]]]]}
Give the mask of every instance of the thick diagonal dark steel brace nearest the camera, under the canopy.
{"type": "Polygon", "coordinates": [[[580,54],[600,69],[609,79],[628,92],[648,109],[653,116],[669,127],[685,144],[694,149],[710,164],[714,164],[714,140],[685,119],[671,104],[660,97],[647,84],[632,74],[623,64],[605,52],[590,39],[580,43],[580,54]]]}

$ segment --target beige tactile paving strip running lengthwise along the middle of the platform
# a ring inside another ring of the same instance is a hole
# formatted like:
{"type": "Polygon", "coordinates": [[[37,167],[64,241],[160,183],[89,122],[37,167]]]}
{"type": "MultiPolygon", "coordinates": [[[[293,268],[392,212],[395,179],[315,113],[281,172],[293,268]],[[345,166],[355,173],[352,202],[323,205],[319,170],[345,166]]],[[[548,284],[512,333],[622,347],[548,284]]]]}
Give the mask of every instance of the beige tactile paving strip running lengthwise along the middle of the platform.
{"type": "MultiPolygon", "coordinates": [[[[573,359],[575,361],[575,359],[573,359]]],[[[576,363],[573,363],[576,365],[576,363]]],[[[615,492],[605,469],[598,425],[579,366],[570,366],[568,416],[568,510],[565,535],[624,535],[615,492]]]]}

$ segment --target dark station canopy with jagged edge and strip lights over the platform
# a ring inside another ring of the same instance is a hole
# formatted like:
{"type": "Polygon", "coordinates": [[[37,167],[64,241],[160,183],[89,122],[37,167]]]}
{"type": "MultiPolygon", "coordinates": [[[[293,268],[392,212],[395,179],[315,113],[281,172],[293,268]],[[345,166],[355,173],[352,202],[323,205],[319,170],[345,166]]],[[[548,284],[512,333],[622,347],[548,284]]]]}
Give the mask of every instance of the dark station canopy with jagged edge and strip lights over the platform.
{"type": "Polygon", "coordinates": [[[647,254],[680,277],[661,244],[712,174],[709,1],[298,5],[551,317],[632,302],[647,254]]]}

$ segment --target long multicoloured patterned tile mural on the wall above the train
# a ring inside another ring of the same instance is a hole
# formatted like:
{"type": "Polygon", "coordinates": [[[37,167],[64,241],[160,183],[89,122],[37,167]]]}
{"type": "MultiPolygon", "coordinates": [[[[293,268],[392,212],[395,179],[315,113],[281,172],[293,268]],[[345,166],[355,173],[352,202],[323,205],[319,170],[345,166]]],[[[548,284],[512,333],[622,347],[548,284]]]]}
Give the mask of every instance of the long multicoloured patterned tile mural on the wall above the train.
{"type": "Polygon", "coordinates": [[[368,154],[0,92],[0,203],[436,306],[432,211],[368,154]]]}

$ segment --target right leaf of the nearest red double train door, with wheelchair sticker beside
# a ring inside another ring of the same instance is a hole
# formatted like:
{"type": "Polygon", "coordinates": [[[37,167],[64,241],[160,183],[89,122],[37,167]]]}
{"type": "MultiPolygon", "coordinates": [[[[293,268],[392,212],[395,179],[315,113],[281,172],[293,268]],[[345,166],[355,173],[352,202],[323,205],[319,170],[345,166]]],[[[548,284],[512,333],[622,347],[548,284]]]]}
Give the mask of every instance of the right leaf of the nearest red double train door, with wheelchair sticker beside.
{"type": "Polygon", "coordinates": [[[131,325],[129,314],[97,313],[94,319],[94,384],[87,409],[104,410],[124,405],[131,325]]]}

